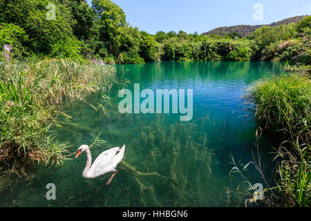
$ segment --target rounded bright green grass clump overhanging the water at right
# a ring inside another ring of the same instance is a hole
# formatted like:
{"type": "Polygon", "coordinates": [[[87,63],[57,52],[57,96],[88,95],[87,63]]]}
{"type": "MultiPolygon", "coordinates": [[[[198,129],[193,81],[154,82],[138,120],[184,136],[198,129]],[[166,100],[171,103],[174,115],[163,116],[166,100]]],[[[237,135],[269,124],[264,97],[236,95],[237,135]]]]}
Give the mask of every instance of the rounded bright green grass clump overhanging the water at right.
{"type": "Polygon", "coordinates": [[[298,132],[311,122],[311,80],[307,76],[277,75],[259,81],[245,96],[266,131],[298,132]]]}

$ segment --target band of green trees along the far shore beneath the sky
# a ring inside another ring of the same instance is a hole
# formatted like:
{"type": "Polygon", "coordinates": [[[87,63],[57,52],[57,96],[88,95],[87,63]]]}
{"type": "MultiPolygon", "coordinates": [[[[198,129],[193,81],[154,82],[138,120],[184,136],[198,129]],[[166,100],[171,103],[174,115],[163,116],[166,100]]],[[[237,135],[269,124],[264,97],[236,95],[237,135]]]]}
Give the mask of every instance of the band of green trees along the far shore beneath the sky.
{"type": "MultiPolygon", "coordinates": [[[[263,26],[243,37],[162,32],[132,27],[122,8],[110,0],[2,0],[0,46],[12,56],[102,59],[105,64],[149,61],[294,61],[309,65],[311,17],[299,23],[263,26]],[[48,4],[55,19],[46,19],[48,4]]],[[[4,59],[1,56],[1,59],[4,59]]]]}

